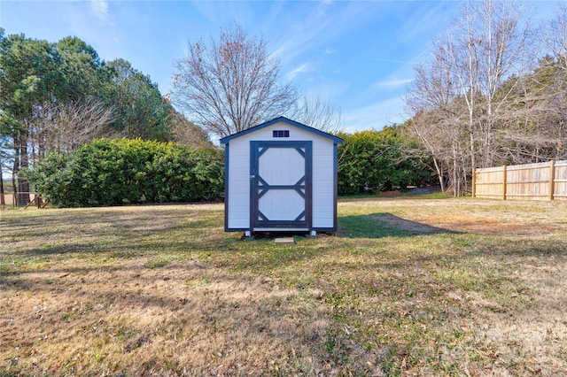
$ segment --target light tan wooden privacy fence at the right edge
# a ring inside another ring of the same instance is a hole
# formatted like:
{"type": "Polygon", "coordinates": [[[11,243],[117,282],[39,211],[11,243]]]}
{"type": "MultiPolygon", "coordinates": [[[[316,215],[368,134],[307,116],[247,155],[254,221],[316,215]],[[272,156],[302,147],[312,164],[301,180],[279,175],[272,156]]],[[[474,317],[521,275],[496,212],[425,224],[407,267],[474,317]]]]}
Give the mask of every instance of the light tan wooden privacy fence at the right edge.
{"type": "Polygon", "coordinates": [[[567,160],[475,169],[472,196],[502,200],[567,200],[567,160]]]}

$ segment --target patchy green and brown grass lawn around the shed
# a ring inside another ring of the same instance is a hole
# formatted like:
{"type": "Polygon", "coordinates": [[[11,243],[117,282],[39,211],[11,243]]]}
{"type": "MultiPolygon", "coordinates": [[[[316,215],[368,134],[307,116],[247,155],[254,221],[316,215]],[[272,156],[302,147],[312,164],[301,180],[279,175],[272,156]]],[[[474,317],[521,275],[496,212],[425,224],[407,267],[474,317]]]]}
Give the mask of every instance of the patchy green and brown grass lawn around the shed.
{"type": "Polygon", "coordinates": [[[338,217],[286,245],[221,204],[0,212],[0,375],[567,374],[567,203],[338,217]]]}

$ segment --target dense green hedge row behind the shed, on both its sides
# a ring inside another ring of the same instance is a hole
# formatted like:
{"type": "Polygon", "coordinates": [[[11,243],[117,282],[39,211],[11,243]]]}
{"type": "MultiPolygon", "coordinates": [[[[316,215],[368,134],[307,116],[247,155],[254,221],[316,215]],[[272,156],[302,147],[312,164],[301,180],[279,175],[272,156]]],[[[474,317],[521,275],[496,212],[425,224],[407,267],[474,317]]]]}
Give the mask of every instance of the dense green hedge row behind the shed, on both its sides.
{"type": "MultiPolygon", "coordinates": [[[[338,194],[369,195],[434,181],[425,150],[408,157],[400,126],[339,134],[338,194]]],[[[224,195],[221,150],[173,142],[96,139],[70,153],[50,153],[20,174],[50,204],[81,207],[219,200],[224,195]]]]}

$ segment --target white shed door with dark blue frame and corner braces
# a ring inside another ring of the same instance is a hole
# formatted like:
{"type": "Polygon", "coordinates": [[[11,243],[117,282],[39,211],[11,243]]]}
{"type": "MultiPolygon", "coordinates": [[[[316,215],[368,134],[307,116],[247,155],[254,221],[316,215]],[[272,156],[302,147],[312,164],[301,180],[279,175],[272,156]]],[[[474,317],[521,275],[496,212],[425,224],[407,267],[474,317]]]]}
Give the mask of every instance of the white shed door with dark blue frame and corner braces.
{"type": "Polygon", "coordinates": [[[309,230],[311,142],[250,143],[252,230],[309,230]]]}

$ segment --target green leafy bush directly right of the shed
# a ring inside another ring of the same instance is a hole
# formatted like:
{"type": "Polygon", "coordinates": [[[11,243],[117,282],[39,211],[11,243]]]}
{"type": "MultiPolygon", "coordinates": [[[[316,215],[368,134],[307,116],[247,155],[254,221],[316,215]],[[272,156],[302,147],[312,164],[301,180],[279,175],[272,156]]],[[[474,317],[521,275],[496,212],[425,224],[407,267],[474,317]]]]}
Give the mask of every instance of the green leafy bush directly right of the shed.
{"type": "Polygon", "coordinates": [[[340,135],[338,194],[374,194],[434,181],[425,153],[397,133],[397,127],[340,135]]]}

